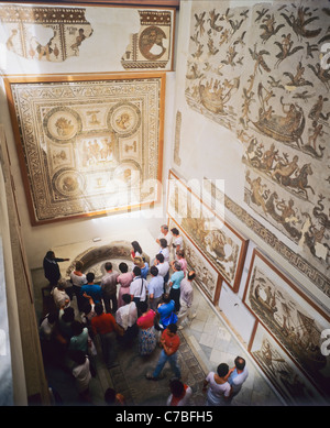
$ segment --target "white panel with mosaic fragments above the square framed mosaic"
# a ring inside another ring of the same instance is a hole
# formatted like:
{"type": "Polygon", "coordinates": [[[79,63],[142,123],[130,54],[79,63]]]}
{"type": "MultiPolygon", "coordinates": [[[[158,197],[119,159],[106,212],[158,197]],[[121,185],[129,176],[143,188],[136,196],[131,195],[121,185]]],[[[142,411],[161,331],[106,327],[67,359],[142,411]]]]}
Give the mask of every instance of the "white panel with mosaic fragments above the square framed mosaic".
{"type": "Polygon", "coordinates": [[[85,44],[85,55],[95,56],[96,52],[98,55],[101,52],[102,57],[111,57],[127,70],[172,70],[175,12],[175,8],[138,9],[110,4],[66,8],[0,3],[0,42],[8,51],[29,61],[62,63],[80,56],[80,47],[85,44]],[[86,14],[94,18],[91,22],[86,20],[86,14]],[[123,34],[111,23],[102,30],[103,37],[111,40],[111,44],[100,46],[102,41],[98,31],[95,42],[86,46],[95,30],[100,29],[98,23],[103,24],[105,15],[113,21],[121,17],[128,28],[140,21],[139,32],[127,35],[128,45],[121,57],[113,56],[111,47],[122,43],[123,34]],[[100,52],[95,51],[96,46],[100,52]]]}

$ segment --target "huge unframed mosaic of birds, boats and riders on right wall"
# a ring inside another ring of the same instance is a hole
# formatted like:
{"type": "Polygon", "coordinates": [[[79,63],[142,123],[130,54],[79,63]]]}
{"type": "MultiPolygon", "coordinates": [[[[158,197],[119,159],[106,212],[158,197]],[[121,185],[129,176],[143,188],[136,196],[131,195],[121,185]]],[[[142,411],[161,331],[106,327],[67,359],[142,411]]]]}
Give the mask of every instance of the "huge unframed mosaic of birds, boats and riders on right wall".
{"type": "Polygon", "coordinates": [[[329,17],[329,2],[195,2],[186,73],[189,107],[230,129],[243,145],[249,215],[277,230],[326,277],[329,17]]]}

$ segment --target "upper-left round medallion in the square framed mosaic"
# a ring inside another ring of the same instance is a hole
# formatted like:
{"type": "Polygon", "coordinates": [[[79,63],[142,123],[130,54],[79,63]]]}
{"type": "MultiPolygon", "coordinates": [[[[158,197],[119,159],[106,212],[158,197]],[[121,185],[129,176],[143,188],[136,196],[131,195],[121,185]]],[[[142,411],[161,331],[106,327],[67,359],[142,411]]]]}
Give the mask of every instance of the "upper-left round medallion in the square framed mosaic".
{"type": "Polygon", "coordinates": [[[81,120],[76,111],[56,107],[45,116],[44,129],[50,139],[56,142],[68,141],[80,132],[81,120]]]}

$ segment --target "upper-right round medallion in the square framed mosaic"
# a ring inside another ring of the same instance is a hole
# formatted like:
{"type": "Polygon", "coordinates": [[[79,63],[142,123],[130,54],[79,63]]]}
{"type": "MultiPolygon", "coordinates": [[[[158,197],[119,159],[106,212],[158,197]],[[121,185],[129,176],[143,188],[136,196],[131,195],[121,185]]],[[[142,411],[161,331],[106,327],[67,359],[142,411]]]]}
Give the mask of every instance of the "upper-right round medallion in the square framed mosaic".
{"type": "Polygon", "coordinates": [[[141,124],[141,111],[131,102],[118,103],[110,110],[108,120],[114,132],[130,136],[141,124]]]}

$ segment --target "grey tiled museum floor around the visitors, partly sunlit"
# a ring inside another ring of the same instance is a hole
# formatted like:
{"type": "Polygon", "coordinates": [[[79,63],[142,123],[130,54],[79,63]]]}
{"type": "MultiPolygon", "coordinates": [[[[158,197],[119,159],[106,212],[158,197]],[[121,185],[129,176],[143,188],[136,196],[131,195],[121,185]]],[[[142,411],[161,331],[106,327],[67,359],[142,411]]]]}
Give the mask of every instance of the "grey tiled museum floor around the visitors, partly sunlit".
{"type": "MultiPolygon", "coordinates": [[[[41,286],[44,285],[43,271],[32,271],[32,278],[35,292],[35,308],[37,317],[40,317],[42,314],[41,286]]],[[[75,299],[73,305],[75,306],[75,299]]],[[[196,394],[194,404],[204,404],[201,384],[202,378],[207,373],[211,370],[215,371],[221,362],[226,362],[229,366],[233,366],[234,358],[241,355],[246,359],[250,375],[244,383],[241,393],[232,400],[232,406],[282,406],[283,403],[264,376],[258,372],[254,362],[198,288],[195,288],[194,308],[196,310],[196,317],[188,326],[180,330],[180,334],[183,334],[184,339],[183,342],[188,347],[187,350],[189,352],[182,352],[179,358],[182,364],[185,365],[183,378],[184,374],[187,377],[191,375],[190,369],[188,366],[186,367],[187,364],[184,360],[186,358],[191,360],[191,355],[193,360],[194,356],[196,358],[197,364],[195,362],[194,370],[197,370],[200,373],[189,377],[190,382],[194,383],[193,391],[196,394]]],[[[141,358],[138,354],[136,349],[120,352],[119,358],[121,359],[121,363],[127,361],[127,365],[121,364],[121,371],[113,369],[109,371],[106,369],[102,361],[97,359],[97,376],[92,378],[90,384],[92,404],[105,405],[105,391],[108,387],[114,387],[116,389],[125,389],[124,394],[128,398],[128,404],[165,405],[168,395],[168,380],[170,378],[170,373],[167,373],[166,382],[162,381],[154,383],[144,378],[146,371],[150,371],[156,364],[158,349],[156,349],[154,354],[147,359],[141,358]],[[134,372],[135,384],[130,384],[132,376],[122,372],[123,366],[130,367],[132,372],[134,372]],[[127,382],[124,383],[125,376],[129,377],[127,377],[127,382]],[[139,382],[140,380],[141,382],[139,382]],[[136,383],[139,383],[139,393],[135,391],[136,383]],[[138,397],[140,397],[140,402],[138,397]]],[[[169,367],[167,367],[167,372],[170,372],[169,367]]],[[[75,397],[77,394],[70,374],[54,367],[47,369],[46,374],[50,384],[61,394],[64,404],[76,404],[75,397]]]]}

